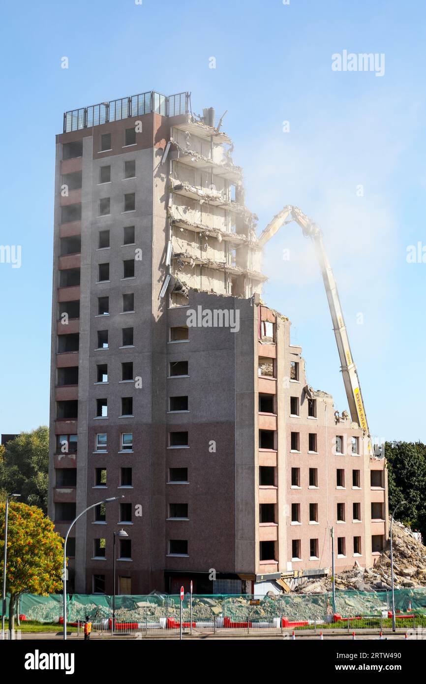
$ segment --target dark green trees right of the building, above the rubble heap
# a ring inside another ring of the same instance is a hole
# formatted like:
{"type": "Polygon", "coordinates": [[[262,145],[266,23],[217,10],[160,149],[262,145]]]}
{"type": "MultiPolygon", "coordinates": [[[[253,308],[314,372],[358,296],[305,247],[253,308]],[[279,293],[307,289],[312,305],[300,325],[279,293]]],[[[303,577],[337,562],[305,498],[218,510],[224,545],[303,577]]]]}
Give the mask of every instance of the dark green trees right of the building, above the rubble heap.
{"type": "Polygon", "coordinates": [[[389,512],[401,501],[398,517],[426,536],[426,445],[421,442],[386,442],[389,512]]]}

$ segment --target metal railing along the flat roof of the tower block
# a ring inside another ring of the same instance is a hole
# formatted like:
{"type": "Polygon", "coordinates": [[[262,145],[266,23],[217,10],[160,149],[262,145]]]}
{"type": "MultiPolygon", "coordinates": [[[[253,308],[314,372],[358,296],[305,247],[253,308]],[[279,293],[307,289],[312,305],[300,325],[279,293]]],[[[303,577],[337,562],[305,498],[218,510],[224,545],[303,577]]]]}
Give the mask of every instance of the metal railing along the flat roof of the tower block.
{"type": "Polygon", "coordinates": [[[144,116],[151,112],[161,114],[161,116],[188,114],[189,98],[188,92],[166,96],[150,90],[139,95],[102,102],[99,105],[72,109],[64,113],[64,133],[92,128],[92,126],[120,121],[132,116],[144,116]]]}

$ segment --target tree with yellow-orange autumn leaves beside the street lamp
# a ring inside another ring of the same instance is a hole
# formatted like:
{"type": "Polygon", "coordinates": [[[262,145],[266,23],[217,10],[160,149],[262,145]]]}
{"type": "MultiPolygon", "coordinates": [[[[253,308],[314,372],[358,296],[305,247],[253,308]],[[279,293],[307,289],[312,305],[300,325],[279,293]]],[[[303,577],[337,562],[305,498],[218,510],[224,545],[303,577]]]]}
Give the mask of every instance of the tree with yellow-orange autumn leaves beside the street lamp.
{"type": "MultiPolygon", "coordinates": [[[[4,530],[5,504],[0,503],[0,529],[4,530]]],[[[37,506],[10,501],[6,592],[10,594],[9,630],[14,630],[15,606],[23,592],[48,596],[62,589],[62,538],[37,506]]],[[[3,577],[4,533],[0,540],[0,576],[3,577]]]]}

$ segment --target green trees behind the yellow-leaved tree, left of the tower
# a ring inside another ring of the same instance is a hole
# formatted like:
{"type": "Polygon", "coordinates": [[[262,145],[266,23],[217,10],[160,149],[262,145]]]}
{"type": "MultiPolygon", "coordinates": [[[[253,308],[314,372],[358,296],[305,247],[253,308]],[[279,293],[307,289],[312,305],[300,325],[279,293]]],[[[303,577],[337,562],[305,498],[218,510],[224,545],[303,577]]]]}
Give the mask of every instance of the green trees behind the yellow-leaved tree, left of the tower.
{"type": "MultiPolygon", "coordinates": [[[[21,432],[0,454],[0,490],[20,494],[20,501],[47,512],[49,428],[21,432]]],[[[3,497],[0,497],[0,500],[3,497]]]]}

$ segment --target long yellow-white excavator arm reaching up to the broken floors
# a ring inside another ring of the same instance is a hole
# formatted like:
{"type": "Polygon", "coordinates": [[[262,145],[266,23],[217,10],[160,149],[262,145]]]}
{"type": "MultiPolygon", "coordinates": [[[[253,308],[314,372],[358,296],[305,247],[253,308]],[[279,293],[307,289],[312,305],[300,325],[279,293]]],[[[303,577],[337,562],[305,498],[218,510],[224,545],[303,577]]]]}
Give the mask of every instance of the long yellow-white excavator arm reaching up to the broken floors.
{"type": "Polygon", "coordinates": [[[347,337],[345,319],[343,318],[341,302],[338,298],[336,280],[334,280],[332,268],[325,252],[321,228],[312,222],[310,218],[300,211],[300,209],[287,205],[287,207],[284,207],[280,213],[274,216],[271,222],[266,226],[259,237],[259,244],[261,248],[263,248],[267,241],[278,232],[281,226],[287,225],[292,221],[299,224],[302,228],[304,237],[310,237],[315,246],[315,252],[323,276],[325,293],[327,294],[328,306],[330,307],[330,313],[332,315],[334,335],[336,337],[338,356],[341,360],[341,371],[343,382],[345,383],[351,419],[360,425],[360,428],[364,430],[364,436],[369,438],[369,451],[371,455],[373,455],[369,425],[364,411],[364,402],[362,401],[360,381],[351,353],[349,339],[347,337]]]}

